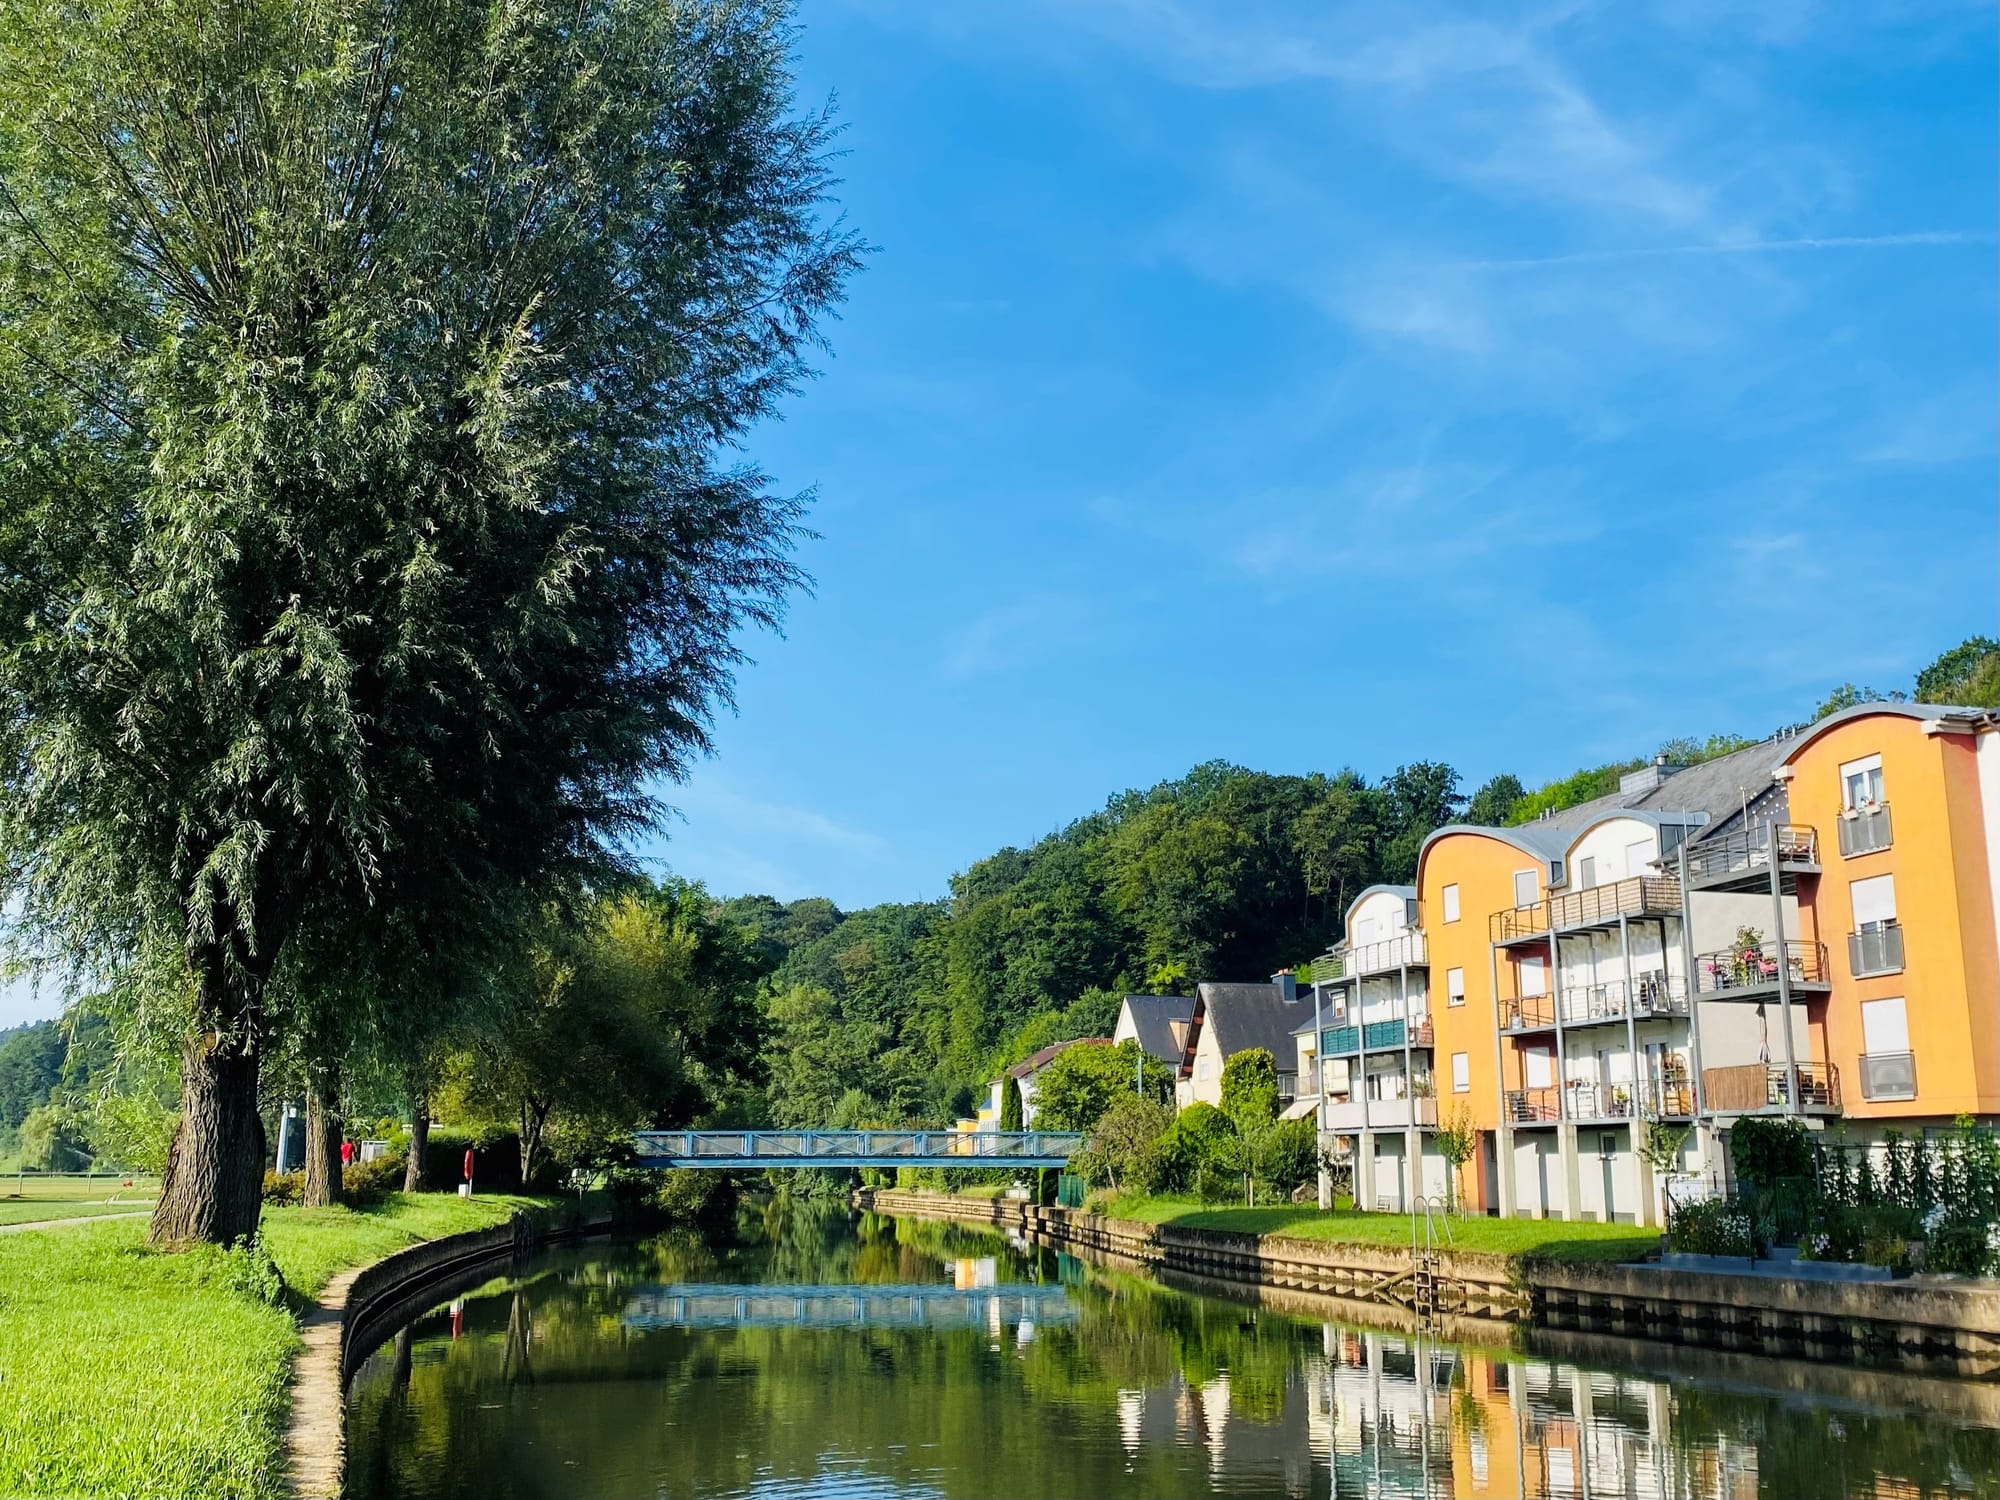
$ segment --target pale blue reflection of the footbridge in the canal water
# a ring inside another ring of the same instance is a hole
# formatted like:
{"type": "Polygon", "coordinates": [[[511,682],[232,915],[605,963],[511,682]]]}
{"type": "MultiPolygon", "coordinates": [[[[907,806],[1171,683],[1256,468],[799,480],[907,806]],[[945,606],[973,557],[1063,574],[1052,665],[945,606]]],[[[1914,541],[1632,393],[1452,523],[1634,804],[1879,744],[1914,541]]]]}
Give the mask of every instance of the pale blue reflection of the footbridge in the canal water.
{"type": "Polygon", "coordinates": [[[1076,1322],[1060,1286],[656,1286],[624,1310],[626,1328],[1000,1328],[1076,1322]]]}

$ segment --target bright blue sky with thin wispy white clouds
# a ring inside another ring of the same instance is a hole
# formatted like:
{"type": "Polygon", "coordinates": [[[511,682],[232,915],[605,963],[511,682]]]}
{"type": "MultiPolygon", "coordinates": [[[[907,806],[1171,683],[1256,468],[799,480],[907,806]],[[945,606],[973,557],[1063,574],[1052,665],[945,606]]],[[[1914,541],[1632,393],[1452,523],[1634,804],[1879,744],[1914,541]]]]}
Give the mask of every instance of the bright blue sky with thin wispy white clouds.
{"type": "MultiPolygon", "coordinates": [[[[1994,10],[810,0],[878,248],[650,852],[842,906],[1208,758],[1530,784],[1996,600],[1994,10]]],[[[28,1006],[16,996],[16,1012],[28,1006]]]]}

